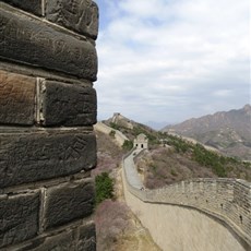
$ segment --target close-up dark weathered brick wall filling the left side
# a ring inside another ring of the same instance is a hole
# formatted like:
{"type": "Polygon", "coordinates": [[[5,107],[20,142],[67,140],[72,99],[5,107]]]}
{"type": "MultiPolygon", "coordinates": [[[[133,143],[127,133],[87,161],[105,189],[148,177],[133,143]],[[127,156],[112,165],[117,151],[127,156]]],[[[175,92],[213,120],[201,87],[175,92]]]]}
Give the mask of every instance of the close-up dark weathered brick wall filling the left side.
{"type": "Polygon", "coordinates": [[[96,250],[91,0],[0,1],[0,250],[96,250]]]}

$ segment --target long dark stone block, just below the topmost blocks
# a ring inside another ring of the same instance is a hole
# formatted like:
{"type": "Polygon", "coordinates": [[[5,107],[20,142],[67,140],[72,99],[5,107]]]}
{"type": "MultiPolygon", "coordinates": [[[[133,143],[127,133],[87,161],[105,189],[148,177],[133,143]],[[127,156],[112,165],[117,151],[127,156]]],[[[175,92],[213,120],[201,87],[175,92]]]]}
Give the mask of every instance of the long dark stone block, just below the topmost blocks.
{"type": "Polygon", "coordinates": [[[0,58],[96,80],[95,46],[1,3],[0,58]]]}

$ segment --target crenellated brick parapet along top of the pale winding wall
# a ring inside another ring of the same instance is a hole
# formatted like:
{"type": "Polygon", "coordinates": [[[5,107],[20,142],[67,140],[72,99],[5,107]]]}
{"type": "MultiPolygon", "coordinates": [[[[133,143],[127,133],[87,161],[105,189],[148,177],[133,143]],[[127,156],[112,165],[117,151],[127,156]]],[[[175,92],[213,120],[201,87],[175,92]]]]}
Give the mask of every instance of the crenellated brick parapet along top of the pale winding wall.
{"type": "Polygon", "coordinates": [[[141,201],[190,207],[213,216],[234,230],[248,250],[251,249],[250,182],[241,179],[196,178],[162,189],[141,190],[130,183],[125,168],[123,171],[128,190],[141,201]]]}

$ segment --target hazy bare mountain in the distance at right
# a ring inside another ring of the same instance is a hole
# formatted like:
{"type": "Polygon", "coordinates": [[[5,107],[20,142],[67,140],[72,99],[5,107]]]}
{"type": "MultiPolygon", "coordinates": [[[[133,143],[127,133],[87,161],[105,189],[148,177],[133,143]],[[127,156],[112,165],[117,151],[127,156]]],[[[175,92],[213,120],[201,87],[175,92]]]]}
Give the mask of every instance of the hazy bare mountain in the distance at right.
{"type": "Polygon", "coordinates": [[[251,160],[251,106],[189,119],[163,132],[189,136],[228,156],[251,160]]]}

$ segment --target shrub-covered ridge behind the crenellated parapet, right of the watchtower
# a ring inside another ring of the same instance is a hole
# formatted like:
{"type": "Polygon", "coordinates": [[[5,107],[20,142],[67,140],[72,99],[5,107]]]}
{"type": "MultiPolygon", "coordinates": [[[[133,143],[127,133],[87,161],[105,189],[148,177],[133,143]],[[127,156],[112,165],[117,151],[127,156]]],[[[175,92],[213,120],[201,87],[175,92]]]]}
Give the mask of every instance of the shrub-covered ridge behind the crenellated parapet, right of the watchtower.
{"type": "Polygon", "coordinates": [[[216,151],[206,150],[201,144],[155,131],[122,116],[120,119],[115,121],[111,118],[104,122],[120,130],[130,140],[140,133],[144,133],[150,140],[150,151],[136,160],[138,170],[150,189],[205,177],[241,178],[251,181],[249,163],[223,156],[216,151]]]}

